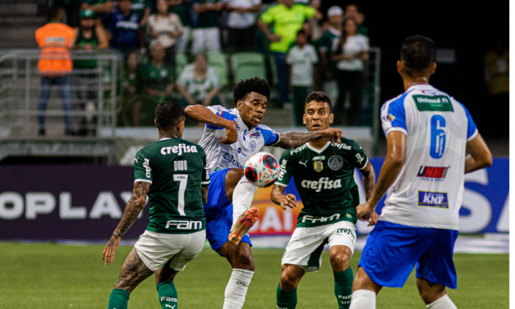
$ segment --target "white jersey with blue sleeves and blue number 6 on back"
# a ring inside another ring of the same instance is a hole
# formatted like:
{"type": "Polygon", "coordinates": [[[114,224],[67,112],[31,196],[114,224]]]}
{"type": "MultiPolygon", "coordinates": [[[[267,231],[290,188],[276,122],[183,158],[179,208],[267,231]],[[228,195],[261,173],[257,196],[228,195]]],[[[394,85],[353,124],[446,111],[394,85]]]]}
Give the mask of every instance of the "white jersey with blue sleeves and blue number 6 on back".
{"type": "Polygon", "coordinates": [[[406,134],[406,162],[379,220],[458,229],[465,147],[477,135],[467,108],[447,93],[417,84],[381,107],[382,130],[406,134]]]}

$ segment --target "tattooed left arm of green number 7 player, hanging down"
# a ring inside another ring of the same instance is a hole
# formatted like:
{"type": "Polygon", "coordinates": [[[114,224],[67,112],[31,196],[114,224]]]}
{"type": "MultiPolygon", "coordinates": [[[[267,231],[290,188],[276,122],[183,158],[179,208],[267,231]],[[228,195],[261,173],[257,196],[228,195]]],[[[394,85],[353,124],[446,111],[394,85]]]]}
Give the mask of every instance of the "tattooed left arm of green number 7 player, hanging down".
{"type": "Polygon", "coordinates": [[[115,260],[115,253],[119,247],[119,242],[122,239],[122,236],[124,236],[128,228],[133,225],[137,216],[141,210],[143,210],[143,207],[145,207],[149,188],[150,183],[138,181],[134,184],[133,194],[130,196],[125,207],[124,215],[111,235],[111,239],[107,242],[104,252],[102,252],[102,260],[104,260],[106,265],[111,265],[111,262],[115,260]]]}

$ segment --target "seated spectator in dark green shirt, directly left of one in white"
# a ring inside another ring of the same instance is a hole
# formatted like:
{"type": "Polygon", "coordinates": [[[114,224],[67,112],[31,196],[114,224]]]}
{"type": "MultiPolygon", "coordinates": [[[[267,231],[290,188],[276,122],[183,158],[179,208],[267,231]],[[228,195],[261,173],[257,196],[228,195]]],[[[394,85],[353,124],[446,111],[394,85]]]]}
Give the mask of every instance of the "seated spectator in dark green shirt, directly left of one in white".
{"type": "Polygon", "coordinates": [[[133,105],[135,126],[152,125],[144,123],[141,114],[144,111],[153,111],[159,103],[170,99],[174,90],[174,67],[164,62],[165,49],[161,43],[155,42],[150,46],[150,58],[150,62],[141,65],[139,70],[141,91],[148,95],[148,100],[139,100],[133,105]]]}

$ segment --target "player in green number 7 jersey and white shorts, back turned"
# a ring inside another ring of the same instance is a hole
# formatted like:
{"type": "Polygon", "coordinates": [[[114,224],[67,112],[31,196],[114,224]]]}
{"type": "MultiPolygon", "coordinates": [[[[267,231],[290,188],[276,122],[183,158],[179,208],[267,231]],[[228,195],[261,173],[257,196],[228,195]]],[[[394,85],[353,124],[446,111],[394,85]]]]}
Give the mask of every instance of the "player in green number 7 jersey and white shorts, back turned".
{"type": "Polygon", "coordinates": [[[137,152],[133,194],[102,253],[105,264],[115,260],[120,239],[143,209],[147,194],[150,222],[122,266],[108,309],[126,309],[130,293],[153,273],[162,308],[176,308],[174,277],[204,247],[203,205],[209,185],[205,152],[181,139],[182,106],[164,102],[155,114],[159,141],[137,152]]]}

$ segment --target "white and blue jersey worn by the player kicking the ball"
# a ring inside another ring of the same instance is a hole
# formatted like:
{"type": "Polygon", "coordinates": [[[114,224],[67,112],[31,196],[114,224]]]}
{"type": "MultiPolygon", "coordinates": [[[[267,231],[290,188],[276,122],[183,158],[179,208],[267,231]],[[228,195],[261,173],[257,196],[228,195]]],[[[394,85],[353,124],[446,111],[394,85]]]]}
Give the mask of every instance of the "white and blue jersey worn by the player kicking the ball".
{"type": "Polygon", "coordinates": [[[207,106],[207,108],[216,115],[234,122],[238,128],[238,141],[231,145],[224,145],[220,144],[218,137],[225,137],[225,128],[206,124],[198,144],[207,154],[209,172],[225,168],[243,168],[247,158],[259,152],[263,146],[273,146],[279,141],[279,135],[268,126],[260,124],[249,130],[236,108],[227,109],[220,105],[207,106]]]}

